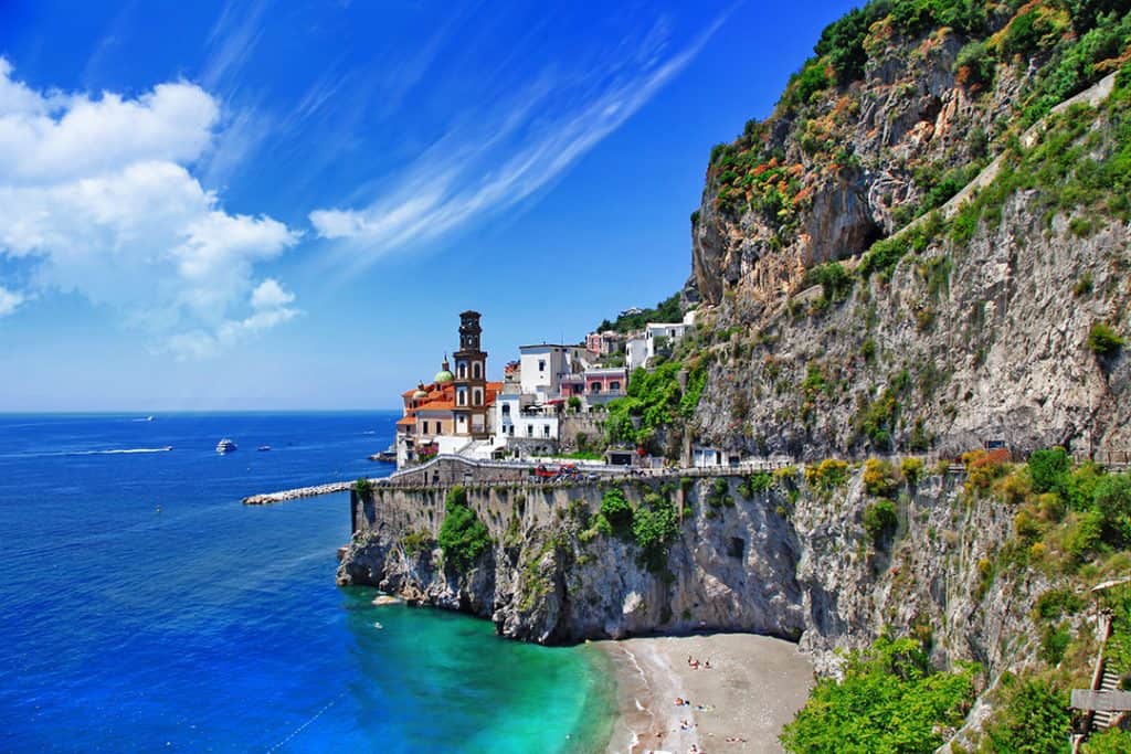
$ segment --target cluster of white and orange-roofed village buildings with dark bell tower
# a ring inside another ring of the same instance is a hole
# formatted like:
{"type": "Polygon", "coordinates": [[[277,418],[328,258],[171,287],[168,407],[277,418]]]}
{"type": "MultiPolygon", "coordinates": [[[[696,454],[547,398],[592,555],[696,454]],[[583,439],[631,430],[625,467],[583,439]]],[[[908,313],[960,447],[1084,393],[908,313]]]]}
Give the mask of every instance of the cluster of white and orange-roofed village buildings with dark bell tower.
{"type": "MultiPolygon", "coordinates": [[[[691,313],[693,314],[693,313],[691,313]]],[[[459,315],[459,348],[440,371],[402,393],[397,467],[438,454],[474,459],[551,456],[601,432],[599,411],[628,391],[629,375],[683,337],[691,318],[640,332],[592,332],[585,345],[519,347],[501,382],[487,375],[481,314],[459,315]]]]}

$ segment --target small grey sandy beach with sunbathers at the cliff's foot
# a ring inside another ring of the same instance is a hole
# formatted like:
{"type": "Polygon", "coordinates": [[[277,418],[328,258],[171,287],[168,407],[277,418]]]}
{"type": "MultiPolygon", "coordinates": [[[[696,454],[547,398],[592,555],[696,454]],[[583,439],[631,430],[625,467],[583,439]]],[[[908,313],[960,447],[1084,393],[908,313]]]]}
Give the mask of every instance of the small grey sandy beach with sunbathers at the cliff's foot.
{"type": "Polygon", "coordinates": [[[812,666],[795,644],[769,636],[734,633],[597,643],[616,668],[621,714],[608,744],[611,754],[782,752],[777,736],[804,705],[813,678],[812,666]],[[698,668],[689,658],[699,660],[698,668]],[[690,704],[677,705],[677,699],[690,704]]]}

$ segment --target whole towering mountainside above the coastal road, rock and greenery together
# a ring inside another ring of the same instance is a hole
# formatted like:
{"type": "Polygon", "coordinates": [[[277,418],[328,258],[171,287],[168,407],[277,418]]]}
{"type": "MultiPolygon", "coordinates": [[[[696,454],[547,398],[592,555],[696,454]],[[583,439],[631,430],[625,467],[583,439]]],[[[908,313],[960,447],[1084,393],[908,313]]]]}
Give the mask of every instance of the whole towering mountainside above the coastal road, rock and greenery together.
{"type": "Polygon", "coordinates": [[[716,147],[687,296],[710,362],[700,439],[803,458],[1131,447],[1131,366],[1094,340],[1131,333],[1131,71],[1048,114],[1131,57],[1125,3],[1095,5],[872,2],[716,147]]]}

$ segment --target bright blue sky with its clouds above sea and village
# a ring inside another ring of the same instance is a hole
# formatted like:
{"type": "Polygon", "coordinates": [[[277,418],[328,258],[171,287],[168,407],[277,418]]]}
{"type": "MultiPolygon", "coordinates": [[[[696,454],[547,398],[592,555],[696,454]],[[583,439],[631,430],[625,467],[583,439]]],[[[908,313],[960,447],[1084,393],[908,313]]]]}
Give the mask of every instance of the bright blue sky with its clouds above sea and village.
{"type": "Polygon", "coordinates": [[[690,271],[851,2],[0,0],[0,410],[387,408],[690,271]]]}

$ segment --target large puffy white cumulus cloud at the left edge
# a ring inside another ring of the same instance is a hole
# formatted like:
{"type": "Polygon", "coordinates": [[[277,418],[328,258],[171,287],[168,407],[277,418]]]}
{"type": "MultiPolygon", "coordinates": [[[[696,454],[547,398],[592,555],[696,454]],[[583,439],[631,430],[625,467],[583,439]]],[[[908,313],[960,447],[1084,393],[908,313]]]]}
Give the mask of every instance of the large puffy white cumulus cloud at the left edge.
{"type": "Polygon", "coordinates": [[[291,319],[293,296],[254,268],[299,233],[227,213],[190,172],[218,114],[185,83],[135,99],[34,92],[0,59],[0,254],[29,266],[32,287],[114,306],[180,355],[202,353],[178,348],[185,333],[224,346],[291,319]],[[274,307],[257,305],[261,288],[274,307]]]}

